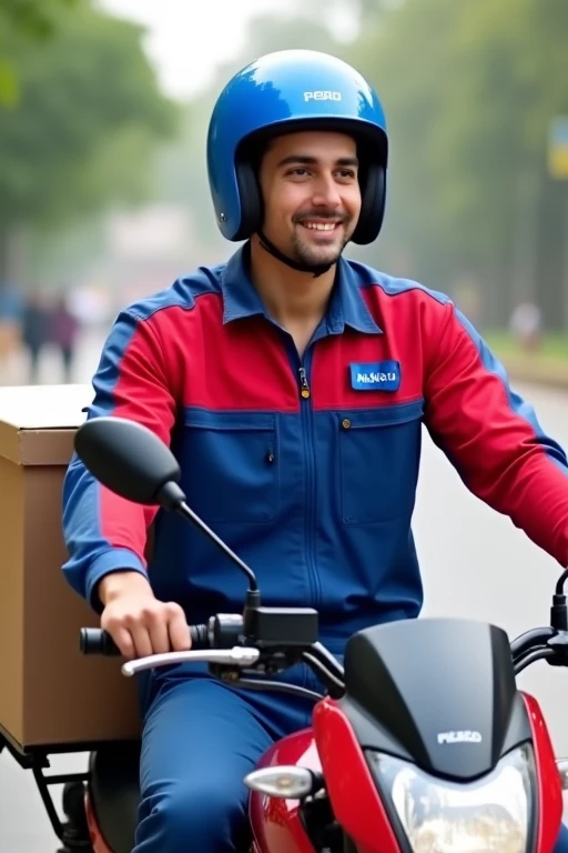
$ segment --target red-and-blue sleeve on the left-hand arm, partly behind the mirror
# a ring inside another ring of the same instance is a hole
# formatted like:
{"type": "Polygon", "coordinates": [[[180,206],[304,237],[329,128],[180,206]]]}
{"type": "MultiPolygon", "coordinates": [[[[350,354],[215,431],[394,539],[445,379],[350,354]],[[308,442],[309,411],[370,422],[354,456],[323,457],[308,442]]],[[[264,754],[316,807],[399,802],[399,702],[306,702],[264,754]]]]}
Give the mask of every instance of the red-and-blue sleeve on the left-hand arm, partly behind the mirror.
{"type": "MultiPolygon", "coordinates": [[[[93,379],[88,417],[130,418],[170,444],[176,413],[175,378],[164,361],[153,317],[118,318],[93,379]]],[[[120,498],[97,482],[73,456],[63,484],[63,530],[71,585],[98,608],[95,588],[111,571],[144,572],[148,528],[158,508],[120,498]]]]}

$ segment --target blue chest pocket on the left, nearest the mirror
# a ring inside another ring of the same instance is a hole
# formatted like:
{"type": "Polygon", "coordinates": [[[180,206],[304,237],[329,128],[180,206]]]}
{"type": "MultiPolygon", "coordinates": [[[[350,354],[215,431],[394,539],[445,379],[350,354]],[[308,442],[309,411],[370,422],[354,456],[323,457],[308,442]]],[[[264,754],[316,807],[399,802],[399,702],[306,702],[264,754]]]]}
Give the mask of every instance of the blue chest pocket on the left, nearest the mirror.
{"type": "Polygon", "coordinates": [[[186,412],[180,448],[182,484],[204,521],[263,523],[280,508],[276,417],[258,412],[186,412]]]}

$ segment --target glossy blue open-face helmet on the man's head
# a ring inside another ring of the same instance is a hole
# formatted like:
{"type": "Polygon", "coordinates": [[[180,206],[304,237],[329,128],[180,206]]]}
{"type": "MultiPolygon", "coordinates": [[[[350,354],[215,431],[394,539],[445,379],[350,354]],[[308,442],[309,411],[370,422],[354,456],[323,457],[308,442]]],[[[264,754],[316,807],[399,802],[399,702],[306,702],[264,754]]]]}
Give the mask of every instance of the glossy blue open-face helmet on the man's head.
{"type": "Polygon", "coordinates": [[[387,136],[376,92],[346,62],[282,50],[239,71],[217,98],[207,132],[207,171],[217,225],[227,240],[262,227],[253,151],[273,136],[307,129],[351,134],[359,151],[362,209],[352,237],[371,243],[383,224],[387,136]]]}

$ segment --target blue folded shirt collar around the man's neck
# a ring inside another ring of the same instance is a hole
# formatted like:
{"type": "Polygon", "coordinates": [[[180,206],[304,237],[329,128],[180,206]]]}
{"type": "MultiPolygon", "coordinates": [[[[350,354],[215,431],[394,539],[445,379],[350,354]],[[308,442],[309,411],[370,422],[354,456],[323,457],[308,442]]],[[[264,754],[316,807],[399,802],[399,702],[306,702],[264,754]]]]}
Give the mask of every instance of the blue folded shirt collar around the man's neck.
{"type": "MultiPolygon", "coordinates": [[[[261,314],[270,319],[248,274],[248,248],[241,247],[227,261],[221,273],[223,323],[261,314]]],[[[357,275],[348,261],[339,258],[335,287],[325,323],[329,334],[341,334],[348,325],[366,334],[381,334],[361,293],[357,275]]]]}

